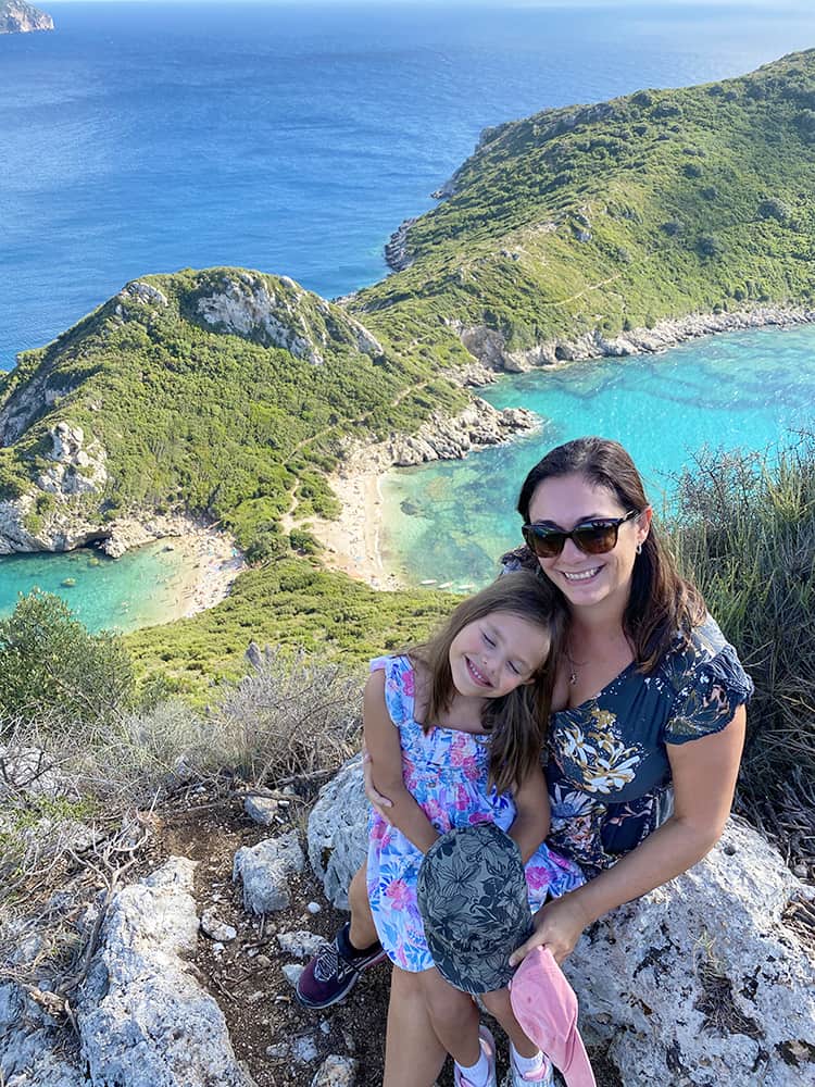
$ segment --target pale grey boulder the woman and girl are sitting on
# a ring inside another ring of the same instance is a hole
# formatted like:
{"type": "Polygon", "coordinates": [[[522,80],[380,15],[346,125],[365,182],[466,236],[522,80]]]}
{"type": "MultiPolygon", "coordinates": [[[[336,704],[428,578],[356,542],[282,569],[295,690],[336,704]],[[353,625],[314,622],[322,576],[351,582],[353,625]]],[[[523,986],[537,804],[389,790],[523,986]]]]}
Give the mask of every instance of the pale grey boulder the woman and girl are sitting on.
{"type": "MultiPolygon", "coordinates": [[[[310,861],[340,908],[366,825],[358,757],[324,787],[309,820],[310,861]]],[[[812,961],[789,923],[812,894],[756,832],[731,820],[703,861],[580,939],[565,970],[584,1037],[610,1045],[626,1087],[812,1082],[812,961]]]]}

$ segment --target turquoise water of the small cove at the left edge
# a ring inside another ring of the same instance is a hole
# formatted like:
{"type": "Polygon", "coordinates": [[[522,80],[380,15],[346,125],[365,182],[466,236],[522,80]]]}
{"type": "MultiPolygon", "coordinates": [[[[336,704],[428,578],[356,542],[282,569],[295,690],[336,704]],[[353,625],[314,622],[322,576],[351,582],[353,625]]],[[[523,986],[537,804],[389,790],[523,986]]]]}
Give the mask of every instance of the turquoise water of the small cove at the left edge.
{"type": "Polygon", "coordinates": [[[87,549],[11,555],[0,560],[0,619],[36,587],[62,597],[89,630],[134,630],[181,614],[192,578],[193,561],[170,540],[115,560],[87,549]]]}

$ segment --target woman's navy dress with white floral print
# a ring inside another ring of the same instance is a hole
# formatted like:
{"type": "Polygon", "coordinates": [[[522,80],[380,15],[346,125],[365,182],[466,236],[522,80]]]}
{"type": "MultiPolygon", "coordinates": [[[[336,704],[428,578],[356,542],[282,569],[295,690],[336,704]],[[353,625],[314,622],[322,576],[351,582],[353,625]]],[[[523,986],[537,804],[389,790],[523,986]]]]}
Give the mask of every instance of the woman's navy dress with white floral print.
{"type": "Polygon", "coordinates": [[[634,849],[673,811],[666,745],[720,732],[752,692],[709,616],[651,675],[629,664],[594,698],[553,713],[549,844],[587,875],[634,849]]]}

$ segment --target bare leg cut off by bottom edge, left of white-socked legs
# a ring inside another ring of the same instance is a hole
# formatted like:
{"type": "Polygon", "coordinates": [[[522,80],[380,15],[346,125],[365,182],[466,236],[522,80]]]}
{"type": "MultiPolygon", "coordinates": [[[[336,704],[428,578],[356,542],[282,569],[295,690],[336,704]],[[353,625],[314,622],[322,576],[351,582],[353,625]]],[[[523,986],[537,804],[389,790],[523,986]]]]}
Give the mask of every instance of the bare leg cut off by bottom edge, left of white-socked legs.
{"type": "Polygon", "coordinates": [[[447,1051],[434,1029],[422,974],[393,967],[383,1087],[432,1087],[447,1051]]]}

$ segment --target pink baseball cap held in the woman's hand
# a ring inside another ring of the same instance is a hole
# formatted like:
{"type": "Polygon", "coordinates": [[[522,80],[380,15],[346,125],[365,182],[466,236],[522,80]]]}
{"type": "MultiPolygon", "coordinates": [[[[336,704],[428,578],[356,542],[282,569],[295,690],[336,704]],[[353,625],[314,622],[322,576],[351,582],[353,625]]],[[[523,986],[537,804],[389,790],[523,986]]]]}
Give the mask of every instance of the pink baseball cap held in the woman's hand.
{"type": "Polygon", "coordinates": [[[535,948],[510,983],[510,1003],[526,1036],[563,1074],[566,1087],[597,1087],[577,1030],[577,997],[549,948],[535,948]]]}

